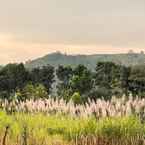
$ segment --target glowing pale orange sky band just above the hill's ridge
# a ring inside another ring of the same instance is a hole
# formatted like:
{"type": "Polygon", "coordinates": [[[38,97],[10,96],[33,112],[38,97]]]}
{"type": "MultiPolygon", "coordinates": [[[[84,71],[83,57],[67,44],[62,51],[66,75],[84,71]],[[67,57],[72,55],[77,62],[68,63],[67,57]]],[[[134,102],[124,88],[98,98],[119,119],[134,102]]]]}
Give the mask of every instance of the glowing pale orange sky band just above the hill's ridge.
{"type": "Polygon", "coordinates": [[[70,45],[23,42],[16,40],[10,34],[1,34],[0,40],[0,64],[25,62],[29,59],[32,60],[56,51],[67,54],[112,54],[127,53],[130,49],[133,49],[135,52],[145,50],[141,48],[119,48],[109,45],[70,45]]]}

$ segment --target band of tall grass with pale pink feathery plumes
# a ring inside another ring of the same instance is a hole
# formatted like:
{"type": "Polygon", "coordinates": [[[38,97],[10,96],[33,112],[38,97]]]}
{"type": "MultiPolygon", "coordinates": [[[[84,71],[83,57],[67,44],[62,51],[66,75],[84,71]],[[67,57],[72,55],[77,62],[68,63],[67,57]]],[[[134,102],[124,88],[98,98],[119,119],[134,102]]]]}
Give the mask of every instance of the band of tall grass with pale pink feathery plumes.
{"type": "Polygon", "coordinates": [[[115,98],[111,100],[97,99],[96,101],[88,100],[86,104],[74,104],[71,100],[66,102],[63,99],[38,99],[18,102],[17,100],[8,102],[0,101],[0,108],[11,112],[25,113],[45,113],[45,114],[63,114],[79,117],[95,116],[102,117],[122,117],[135,115],[142,121],[145,119],[145,99],[126,97],[115,98]]]}

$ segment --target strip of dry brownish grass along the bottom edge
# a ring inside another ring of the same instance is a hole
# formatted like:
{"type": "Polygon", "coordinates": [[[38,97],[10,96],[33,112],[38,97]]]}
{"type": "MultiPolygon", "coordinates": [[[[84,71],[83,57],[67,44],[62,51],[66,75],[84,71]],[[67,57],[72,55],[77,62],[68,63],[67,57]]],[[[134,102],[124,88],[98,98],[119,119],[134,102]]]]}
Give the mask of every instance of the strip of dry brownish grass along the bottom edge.
{"type": "MultiPolygon", "coordinates": [[[[0,138],[1,140],[1,138],[0,138]]],[[[1,145],[3,145],[1,140],[1,145]]],[[[130,138],[130,139],[111,139],[107,137],[96,137],[96,136],[82,136],[81,138],[76,138],[75,141],[66,142],[60,139],[34,139],[29,137],[27,144],[23,142],[23,139],[18,138],[16,142],[12,142],[9,137],[7,137],[5,145],[145,145],[144,139],[142,137],[130,138]]]]}

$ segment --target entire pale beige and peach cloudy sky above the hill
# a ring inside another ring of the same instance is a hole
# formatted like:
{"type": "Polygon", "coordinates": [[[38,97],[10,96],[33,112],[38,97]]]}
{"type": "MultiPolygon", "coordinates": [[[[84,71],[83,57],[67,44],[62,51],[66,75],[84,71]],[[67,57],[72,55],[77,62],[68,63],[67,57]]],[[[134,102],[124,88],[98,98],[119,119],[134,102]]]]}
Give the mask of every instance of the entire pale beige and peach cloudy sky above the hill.
{"type": "Polygon", "coordinates": [[[145,0],[0,0],[0,64],[130,49],[145,51],[145,0]]]}

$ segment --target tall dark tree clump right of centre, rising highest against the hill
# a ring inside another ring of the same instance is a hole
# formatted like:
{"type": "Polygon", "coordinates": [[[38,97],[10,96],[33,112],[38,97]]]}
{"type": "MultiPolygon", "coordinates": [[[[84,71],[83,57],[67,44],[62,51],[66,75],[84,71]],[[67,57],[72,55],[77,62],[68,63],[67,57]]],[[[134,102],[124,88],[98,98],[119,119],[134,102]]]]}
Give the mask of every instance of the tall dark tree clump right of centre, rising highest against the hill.
{"type": "Polygon", "coordinates": [[[100,62],[96,66],[95,87],[90,95],[108,99],[112,95],[129,94],[130,68],[112,62],[100,62]]]}

